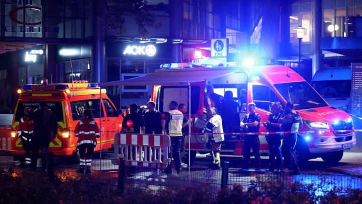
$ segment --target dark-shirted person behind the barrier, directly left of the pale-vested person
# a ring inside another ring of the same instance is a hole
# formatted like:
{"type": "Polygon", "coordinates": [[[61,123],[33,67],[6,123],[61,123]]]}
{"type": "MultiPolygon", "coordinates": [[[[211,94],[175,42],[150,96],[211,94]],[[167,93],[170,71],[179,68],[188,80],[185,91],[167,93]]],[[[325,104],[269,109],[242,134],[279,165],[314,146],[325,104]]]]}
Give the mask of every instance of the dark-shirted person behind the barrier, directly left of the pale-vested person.
{"type": "Polygon", "coordinates": [[[161,134],[162,133],[162,115],[155,109],[156,103],[153,101],[147,102],[147,111],[143,112],[145,121],[146,134],[161,134]]]}

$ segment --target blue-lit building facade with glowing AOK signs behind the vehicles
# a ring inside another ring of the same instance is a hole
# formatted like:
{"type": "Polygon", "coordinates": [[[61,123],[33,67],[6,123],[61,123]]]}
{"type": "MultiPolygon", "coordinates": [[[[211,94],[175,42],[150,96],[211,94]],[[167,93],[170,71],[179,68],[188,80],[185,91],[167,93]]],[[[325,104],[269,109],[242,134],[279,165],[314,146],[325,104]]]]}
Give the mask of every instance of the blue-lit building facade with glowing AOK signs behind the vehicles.
{"type": "MultiPolygon", "coordinates": [[[[281,0],[282,1],[282,0],[281,0]]],[[[131,13],[124,30],[107,24],[108,1],[0,0],[0,112],[11,113],[16,90],[43,78],[116,81],[154,72],[161,63],[210,56],[211,39],[227,38],[229,61],[240,63],[260,43],[262,0],[148,0],[157,26],[142,38],[131,13]]],[[[325,66],[361,59],[362,0],[283,0],[277,61],[310,81],[325,66]],[[295,28],[305,28],[299,41],[295,28]]],[[[265,32],[265,30],[264,30],[265,32]]],[[[151,87],[107,87],[117,108],[144,105],[151,87]]]]}

